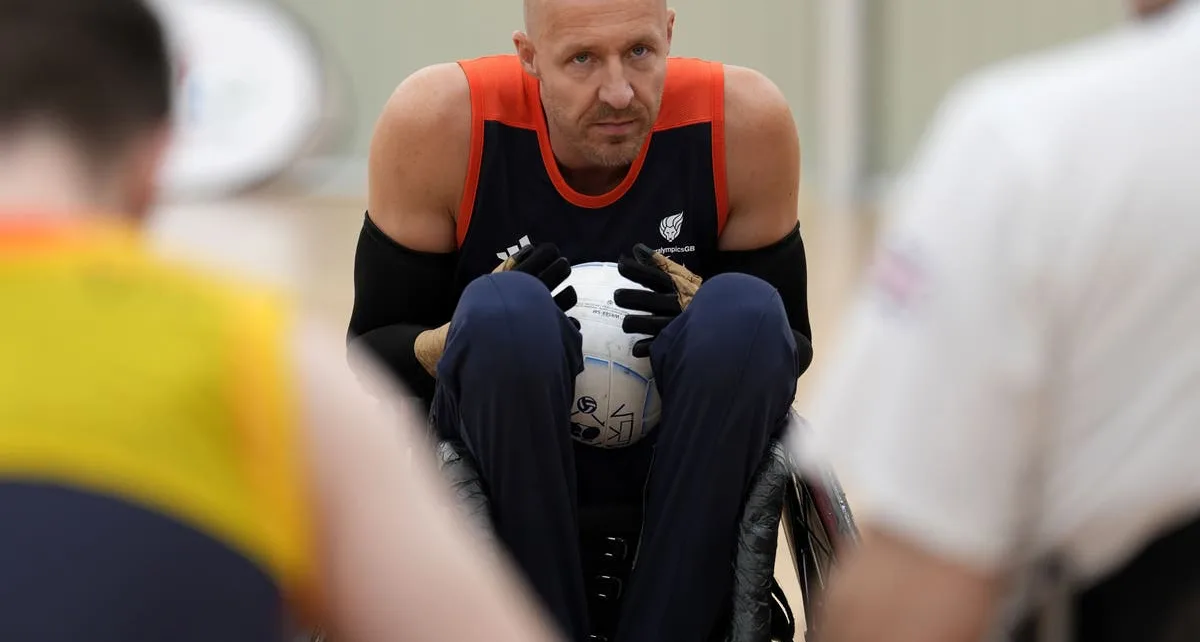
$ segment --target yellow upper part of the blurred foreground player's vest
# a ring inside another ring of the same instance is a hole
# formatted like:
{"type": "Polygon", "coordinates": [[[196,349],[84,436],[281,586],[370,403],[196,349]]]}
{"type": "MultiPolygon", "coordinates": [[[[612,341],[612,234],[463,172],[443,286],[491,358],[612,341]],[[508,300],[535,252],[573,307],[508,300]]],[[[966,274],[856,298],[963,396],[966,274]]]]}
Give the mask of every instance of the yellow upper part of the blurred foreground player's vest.
{"type": "Polygon", "coordinates": [[[119,226],[0,221],[0,481],[149,508],[312,599],[283,298],[119,226]]]}

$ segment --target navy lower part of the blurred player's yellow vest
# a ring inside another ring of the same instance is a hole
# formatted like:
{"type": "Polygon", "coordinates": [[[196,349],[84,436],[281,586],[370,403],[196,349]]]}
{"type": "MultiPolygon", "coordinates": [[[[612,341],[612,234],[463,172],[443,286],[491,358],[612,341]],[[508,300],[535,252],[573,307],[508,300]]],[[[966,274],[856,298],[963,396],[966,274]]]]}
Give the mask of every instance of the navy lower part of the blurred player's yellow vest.
{"type": "Polygon", "coordinates": [[[283,640],[283,596],[251,559],[115,496],[0,481],[0,640],[283,640]]]}

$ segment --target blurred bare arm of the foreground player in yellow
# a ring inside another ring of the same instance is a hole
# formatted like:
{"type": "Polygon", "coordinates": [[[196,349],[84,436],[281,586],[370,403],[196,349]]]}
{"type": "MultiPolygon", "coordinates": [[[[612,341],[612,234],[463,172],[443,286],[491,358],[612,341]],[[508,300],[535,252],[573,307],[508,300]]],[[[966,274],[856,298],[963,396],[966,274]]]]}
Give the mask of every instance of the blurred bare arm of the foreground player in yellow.
{"type": "Polygon", "coordinates": [[[500,550],[455,511],[414,408],[372,360],[350,373],[336,332],[295,336],[334,640],[562,640],[500,550]]]}

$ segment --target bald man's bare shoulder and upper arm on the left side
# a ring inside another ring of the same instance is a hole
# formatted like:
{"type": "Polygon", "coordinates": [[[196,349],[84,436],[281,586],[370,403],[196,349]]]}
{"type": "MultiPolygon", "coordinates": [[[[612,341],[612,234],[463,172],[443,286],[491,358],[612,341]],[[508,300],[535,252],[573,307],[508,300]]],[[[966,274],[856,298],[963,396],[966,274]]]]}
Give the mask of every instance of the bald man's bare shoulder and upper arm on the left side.
{"type": "Polygon", "coordinates": [[[371,137],[372,221],[414,250],[454,248],[454,216],[470,158],[470,88],[454,62],[404,78],[371,137]]]}

